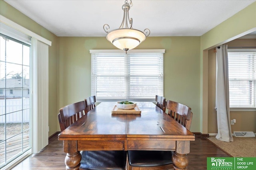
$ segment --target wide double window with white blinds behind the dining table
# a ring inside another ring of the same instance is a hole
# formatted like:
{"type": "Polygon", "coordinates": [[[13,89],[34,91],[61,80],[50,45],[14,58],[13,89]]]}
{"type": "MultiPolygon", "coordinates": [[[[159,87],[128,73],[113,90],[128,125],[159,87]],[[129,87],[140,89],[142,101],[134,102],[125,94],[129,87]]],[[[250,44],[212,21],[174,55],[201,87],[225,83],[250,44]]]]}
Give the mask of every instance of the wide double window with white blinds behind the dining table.
{"type": "Polygon", "coordinates": [[[154,101],[164,93],[164,50],[90,50],[97,101],[154,101]]]}

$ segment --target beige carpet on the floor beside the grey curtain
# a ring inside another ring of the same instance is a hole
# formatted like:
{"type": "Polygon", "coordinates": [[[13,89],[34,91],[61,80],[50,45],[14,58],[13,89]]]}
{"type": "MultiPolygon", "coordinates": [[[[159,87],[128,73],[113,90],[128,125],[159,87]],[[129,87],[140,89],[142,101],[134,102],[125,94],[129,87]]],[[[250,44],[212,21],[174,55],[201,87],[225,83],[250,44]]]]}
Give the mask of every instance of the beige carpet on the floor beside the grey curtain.
{"type": "Polygon", "coordinates": [[[220,141],[215,136],[207,139],[230,156],[256,157],[256,137],[233,137],[233,142],[220,141]]]}

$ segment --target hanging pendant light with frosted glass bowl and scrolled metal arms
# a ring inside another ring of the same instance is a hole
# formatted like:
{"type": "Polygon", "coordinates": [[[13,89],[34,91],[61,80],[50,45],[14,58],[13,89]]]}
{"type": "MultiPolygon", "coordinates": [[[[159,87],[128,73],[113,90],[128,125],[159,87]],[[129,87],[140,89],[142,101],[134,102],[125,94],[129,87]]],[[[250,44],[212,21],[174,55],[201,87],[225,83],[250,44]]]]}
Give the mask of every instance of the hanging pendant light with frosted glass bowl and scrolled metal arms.
{"type": "Polygon", "coordinates": [[[122,9],[124,10],[123,21],[118,29],[108,31],[110,29],[109,25],[103,25],[103,29],[107,33],[107,40],[118,49],[124,50],[126,53],[128,50],[137,47],[150,34],[149,29],[144,29],[144,32],[142,32],[132,28],[132,18],[129,18],[129,10],[131,7],[132,1],[130,0],[128,3],[128,0],[125,0],[125,4],[122,6],[122,9]]]}

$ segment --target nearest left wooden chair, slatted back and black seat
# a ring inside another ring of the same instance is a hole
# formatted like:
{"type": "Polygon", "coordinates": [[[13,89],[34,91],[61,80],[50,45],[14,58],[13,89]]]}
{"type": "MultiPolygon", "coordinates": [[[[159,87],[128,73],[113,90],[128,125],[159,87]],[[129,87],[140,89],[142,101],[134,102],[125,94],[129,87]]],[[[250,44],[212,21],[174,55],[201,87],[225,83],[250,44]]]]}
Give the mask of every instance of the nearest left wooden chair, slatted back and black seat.
{"type": "MultiPolygon", "coordinates": [[[[62,107],[58,114],[60,130],[82,118],[88,113],[85,101],[62,107]]],[[[125,170],[127,152],[123,150],[80,151],[80,168],[85,170],[125,170]]]]}

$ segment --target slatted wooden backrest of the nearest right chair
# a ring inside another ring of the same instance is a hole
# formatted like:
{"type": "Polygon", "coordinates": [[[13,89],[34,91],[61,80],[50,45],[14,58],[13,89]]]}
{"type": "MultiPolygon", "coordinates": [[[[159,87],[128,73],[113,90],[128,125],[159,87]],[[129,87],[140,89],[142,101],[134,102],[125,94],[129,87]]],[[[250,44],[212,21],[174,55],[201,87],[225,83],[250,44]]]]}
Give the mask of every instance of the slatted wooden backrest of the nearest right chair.
{"type": "Polygon", "coordinates": [[[168,115],[186,127],[186,129],[190,129],[193,116],[190,107],[178,102],[167,100],[166,109],[168,109],[168,115]]]}

